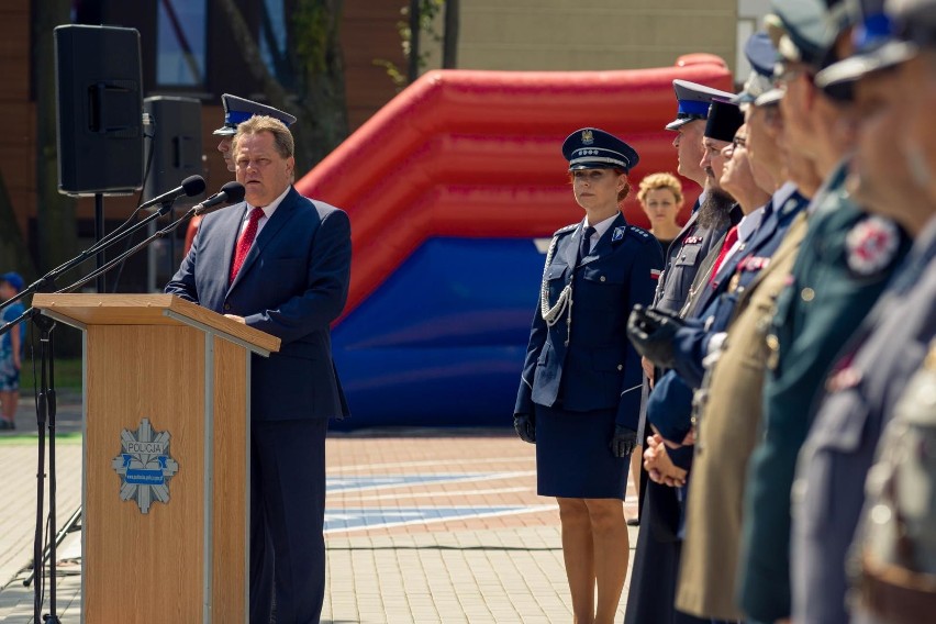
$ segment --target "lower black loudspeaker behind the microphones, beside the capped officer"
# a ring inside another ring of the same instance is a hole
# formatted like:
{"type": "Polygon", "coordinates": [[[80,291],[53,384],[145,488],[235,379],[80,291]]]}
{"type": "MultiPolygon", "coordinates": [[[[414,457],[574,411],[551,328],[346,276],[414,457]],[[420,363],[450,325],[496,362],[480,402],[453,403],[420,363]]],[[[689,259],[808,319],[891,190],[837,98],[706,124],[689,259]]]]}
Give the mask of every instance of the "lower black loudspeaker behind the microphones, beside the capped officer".
{"type": "MultiPolygon", "coordinates": [[[[189,176],[202,174],[201,102],[192,98],[156,96],[143,100],[149,114],[153,149],[149,174],[143,186],[144,201],[178,187],[189,176]]],[[[176,203],[196,198],[179,198],[176,203]]]]}

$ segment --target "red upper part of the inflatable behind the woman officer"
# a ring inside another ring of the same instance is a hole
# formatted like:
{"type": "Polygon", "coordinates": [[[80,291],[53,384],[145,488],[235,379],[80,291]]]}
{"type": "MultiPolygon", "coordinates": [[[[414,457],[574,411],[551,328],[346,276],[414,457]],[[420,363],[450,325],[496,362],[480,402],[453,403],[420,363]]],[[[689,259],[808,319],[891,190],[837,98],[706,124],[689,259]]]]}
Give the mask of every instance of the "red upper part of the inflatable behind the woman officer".
{"type": "MultiPolygon", "coordinates": [[[[559,146],[583,126],[632,144],[639,179],[676,172],[672,80],[731,90],[717,56],[620,71],[431,71],[297,182],[352,221],[353,311],[432,236],[542,237],[581,219],[559,146]]],[[[699,188],[684,180],[687,204],[699,188]]],[[[636,192],[628,221],[647,223],[636,192]]],[[[688,210],[688,209],[684,209],[688,210]]]]}

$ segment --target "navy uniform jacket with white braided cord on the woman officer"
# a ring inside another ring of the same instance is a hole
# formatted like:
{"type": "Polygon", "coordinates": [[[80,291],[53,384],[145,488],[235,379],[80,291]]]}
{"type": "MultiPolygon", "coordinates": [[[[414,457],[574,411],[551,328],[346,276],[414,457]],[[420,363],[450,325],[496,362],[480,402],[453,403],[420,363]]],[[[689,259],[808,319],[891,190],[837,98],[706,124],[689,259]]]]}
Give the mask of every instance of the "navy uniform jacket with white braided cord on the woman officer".
{"type": "Polygon", "coordinates": [[[619,214],[579,259],[582,230],[578,223],[554,235],[542,288],[551,308],[571,285],[572,303],[549,326],[541,292],[514,413],[533,414],[534,403],[568,412],[616,409],[615,422],[636,431],[643,369],[627,339],[627,317],[634,305],[653,301],[662,252],[619,214]]]}

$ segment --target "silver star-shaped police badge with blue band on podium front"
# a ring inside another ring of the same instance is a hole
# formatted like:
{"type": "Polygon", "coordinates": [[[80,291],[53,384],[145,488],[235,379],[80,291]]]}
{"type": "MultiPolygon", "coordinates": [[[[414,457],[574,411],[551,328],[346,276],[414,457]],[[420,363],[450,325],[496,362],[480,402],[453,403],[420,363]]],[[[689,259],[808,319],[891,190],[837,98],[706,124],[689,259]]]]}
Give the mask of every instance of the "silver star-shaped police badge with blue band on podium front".
{"type": "Polygon", "coordinates": [[[169,502],[169,479],[179,471],[179,464],[169,456],[170,437],[169,432],[154,432],[149,419],[140,421],[135,432],[121,432],[123,453],[111,466],[121,478],[121,500],[135,500],[143,513],[149,513],[154,498],[169,502]]]}

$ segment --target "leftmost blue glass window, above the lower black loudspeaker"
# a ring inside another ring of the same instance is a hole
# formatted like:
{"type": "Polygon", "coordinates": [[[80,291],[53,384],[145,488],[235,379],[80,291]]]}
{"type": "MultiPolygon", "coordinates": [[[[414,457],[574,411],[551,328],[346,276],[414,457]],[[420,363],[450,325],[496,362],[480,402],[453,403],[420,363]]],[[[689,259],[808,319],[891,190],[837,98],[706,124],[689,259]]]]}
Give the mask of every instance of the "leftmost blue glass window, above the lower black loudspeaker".
{"type": "Polygon", "coordinates": [[[208,0],[157,0],[156,82],[160,87],[204,85],[208,0]]]}

